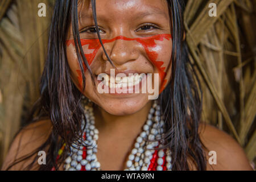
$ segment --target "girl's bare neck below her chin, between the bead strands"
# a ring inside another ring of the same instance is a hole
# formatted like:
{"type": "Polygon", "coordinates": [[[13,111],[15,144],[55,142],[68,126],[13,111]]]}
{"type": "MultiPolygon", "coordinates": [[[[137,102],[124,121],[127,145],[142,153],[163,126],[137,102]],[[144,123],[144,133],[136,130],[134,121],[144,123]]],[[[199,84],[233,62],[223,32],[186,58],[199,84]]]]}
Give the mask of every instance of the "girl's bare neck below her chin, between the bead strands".
{"type": "Polygon", "coordinates": [[[112,115],[100,107],[94,108],[95,125],[102,134],[108,134],[113,137],[135,137],[141,132],[142,126],[147,121],[147,115],[152,106],[148,102],[137,113],[130,115],[112,115]]]}

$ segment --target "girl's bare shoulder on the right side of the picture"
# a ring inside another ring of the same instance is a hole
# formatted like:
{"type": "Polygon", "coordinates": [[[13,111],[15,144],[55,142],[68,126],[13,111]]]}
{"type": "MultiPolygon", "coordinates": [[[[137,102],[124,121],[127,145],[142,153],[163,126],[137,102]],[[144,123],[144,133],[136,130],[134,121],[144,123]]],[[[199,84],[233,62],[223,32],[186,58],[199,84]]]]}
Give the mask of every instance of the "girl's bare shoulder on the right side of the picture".
{"type": "Polygon", "coordinates": [[[206,147],[207,170],[236,171],[252,169],[240,144],[224,131],[210,125],[201,124],[199,135],[206,147]],[[215,154],[216,164],[209,164],[209,159],[214,162],[213,156],[215,154]]]}

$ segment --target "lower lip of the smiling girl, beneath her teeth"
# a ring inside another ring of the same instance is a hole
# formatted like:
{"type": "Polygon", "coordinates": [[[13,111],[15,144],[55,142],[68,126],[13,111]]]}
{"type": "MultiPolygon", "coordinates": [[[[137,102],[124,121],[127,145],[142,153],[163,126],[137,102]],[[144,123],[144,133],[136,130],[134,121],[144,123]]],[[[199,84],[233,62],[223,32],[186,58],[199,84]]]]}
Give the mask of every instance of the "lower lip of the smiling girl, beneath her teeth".
{"type": "MultiPolygon", "coordinates": [[[[147,81],[147,75],[144,76],[138,84],[133,85],[133,86],[127,86],[126,90],[125,90],[125,88],[121,88],[122,91],[123,92],[126,91],[126,93],[117,93],[117,88],[115,88],[114,93],[110,93],[109,86],[104,85],[109,90],[108,93],[104,93],[104,94],[109,94],[109,95],[112,95],[112,96],[130,96],[130,95],[133,95],[133,94],[139,94],[139,93],[141,93],[142,86],[144,86],[144,85],[142,85],[142,83],[146,84],[146,81],[147,81]],[[139,93],[135,93],[135,87],[138,87],[138,86],[139,86],[139,93]]],[[[97,80],[97,76],[96,76],[96,82],[98,82],[98,84],[100,84],[100,82],[102,82],[102,81],[97,80]]]]}

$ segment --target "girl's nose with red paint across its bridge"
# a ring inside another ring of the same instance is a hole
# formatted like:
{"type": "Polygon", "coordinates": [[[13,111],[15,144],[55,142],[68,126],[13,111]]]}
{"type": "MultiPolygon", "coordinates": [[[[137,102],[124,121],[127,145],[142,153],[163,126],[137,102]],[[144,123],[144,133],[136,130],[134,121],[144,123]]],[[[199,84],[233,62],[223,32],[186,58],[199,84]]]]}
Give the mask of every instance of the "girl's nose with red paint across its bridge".
{"type": "MultiPolygon", "coordinates": [[[[138,42],[133,39],[127,39],[123,36],[119,36],[112,43],[104,44],[110,59],[114,64],[122,65],[127,61],[137,60],[139,57],[138,42]]],[[[108,60],[105,53],[103,53],[103,59],[108,60]]]]}

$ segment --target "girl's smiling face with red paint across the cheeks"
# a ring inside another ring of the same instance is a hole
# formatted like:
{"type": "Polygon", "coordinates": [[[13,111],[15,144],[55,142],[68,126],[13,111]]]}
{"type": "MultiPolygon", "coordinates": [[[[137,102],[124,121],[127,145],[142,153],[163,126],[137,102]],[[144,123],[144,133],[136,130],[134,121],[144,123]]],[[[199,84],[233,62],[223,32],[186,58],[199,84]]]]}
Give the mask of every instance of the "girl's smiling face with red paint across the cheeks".
{"type": "MultiPolygon", "coordinates": [[[[167,2],[165,0],[101,0],[96,1],[96,12],[102,43],[116,67],[115,75],[123,73],[127,76],[125,80],[129,80],[131,78],[129,73],[146,75],[151,73],[153,79],[150,84],[154,89],[157,86],[159,92],[162,92],[171,75],[172,37],[167,2]],[[158,80],[154,79],[154,74],[159,75],[158,80]],[[157,83],[156,86],[154,83],[157,83]]],[[[67,57],[71,77],[77,88],[110,114],[126,115],[141,110],[150,101],[148,96],[152,94],[98,92],[97,87],[100,82],[97,81],[97,76],[101,73],[110,76],[110,69],[113,69],[113,66],[98,40],[89,1],[81,1],[78,16],[82,49],[96,77],[96,87],[93,86],[90,73],[85,69],[86,86],[85,90],[81,89],[81,69],[70,27],[67,57]]],[[[133,84],[136,85],[135,81],[131,82],[131,85],[133,84]]],[[[146,87],[145,82],[142,81],[139,85],[141,89],[146,87]]]]}

